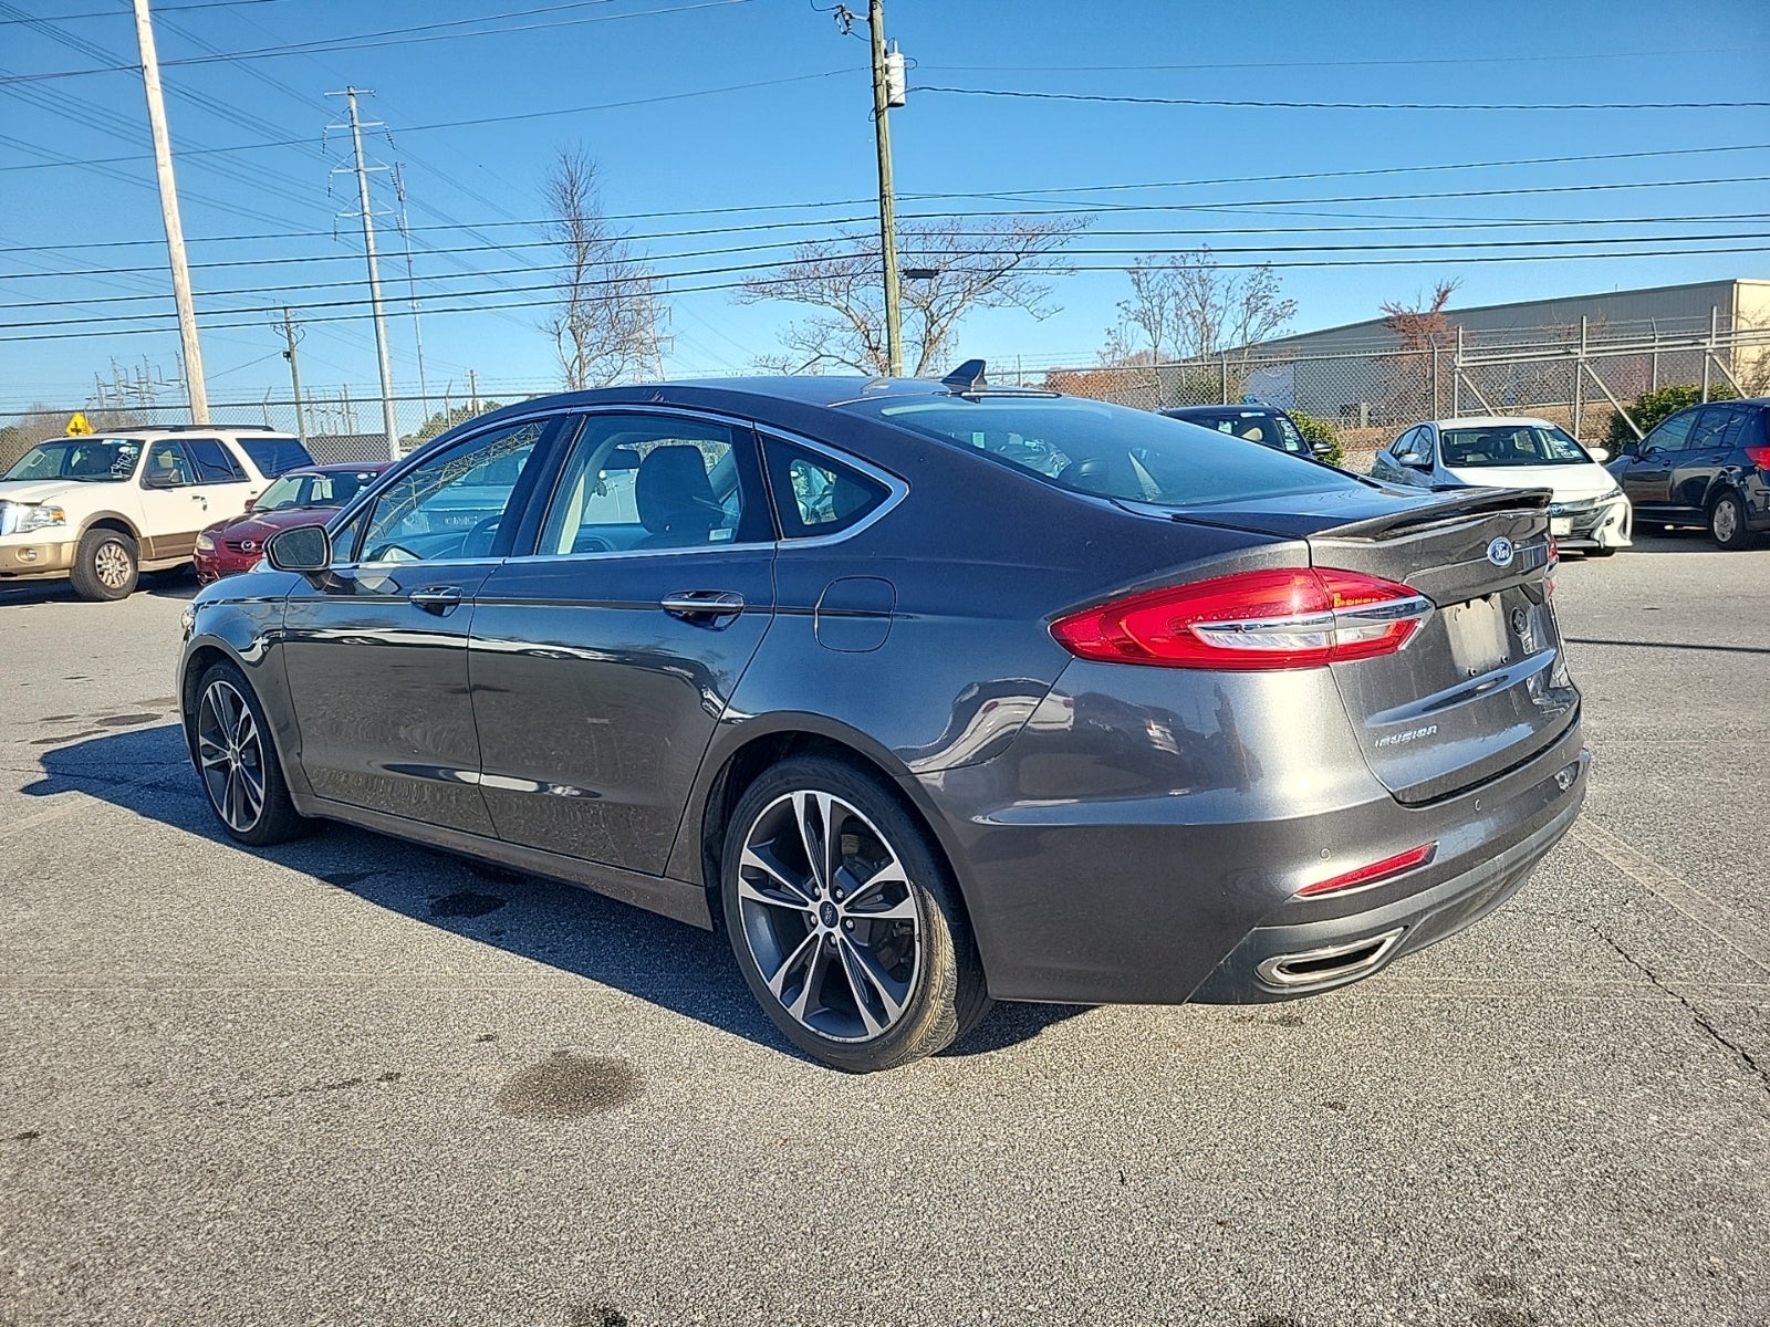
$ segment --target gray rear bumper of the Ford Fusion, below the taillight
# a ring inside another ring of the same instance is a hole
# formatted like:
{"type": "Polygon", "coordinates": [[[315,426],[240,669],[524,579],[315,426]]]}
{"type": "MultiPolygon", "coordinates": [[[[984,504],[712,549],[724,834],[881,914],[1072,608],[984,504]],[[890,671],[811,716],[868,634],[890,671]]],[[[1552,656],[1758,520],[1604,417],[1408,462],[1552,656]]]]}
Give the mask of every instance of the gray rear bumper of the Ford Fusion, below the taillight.
{"type": "Polygon", "coordinates": [[[1255,1003],[1343,986],[1497,908],[1579,816],[1589,757],[1577,711],[1519,764],[1423,805],[1370,777],[1358,747],[1335,736],[1338,715],[1306,722],[1319,711],[1244,711],[1211,734],[1204,710],[1191,736],[1181,711],[1147,724],[1143,750],[1129,747],[1131,717],[1080,715],[1074,725],[1094,731],[1069,754],[1057,722],[1034,715],[1004,756],[926,775],[989,993],[1255,1003]],[[1257,722],[1267,731],[1255,734],[1257,722]],[[1122,756],[1103,727],[1126,740],[1122,756]],[[1430,862],[1402,876],[1299,895],[1425,844],[1430,862]],[[1381,954],[1359,952],[1366,943],[1381,954]],[[1267,959],[1338,945],[1354,947],[1352,961],[1324,963],[1320,980],[1260,973],[1267,959]]]}

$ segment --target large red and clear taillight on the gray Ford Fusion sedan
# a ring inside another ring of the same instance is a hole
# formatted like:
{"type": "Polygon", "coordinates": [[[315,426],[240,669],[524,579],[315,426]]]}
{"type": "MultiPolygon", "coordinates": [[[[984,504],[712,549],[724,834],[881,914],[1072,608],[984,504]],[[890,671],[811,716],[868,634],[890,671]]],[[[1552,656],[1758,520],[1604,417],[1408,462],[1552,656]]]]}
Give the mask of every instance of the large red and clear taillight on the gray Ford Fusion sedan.
{"type": "Polygon", "coordinates": [[[1335,568],[1243,571],[1129,594],[1051,623],[1078,658],[1168,669],[1312,669],[1404,649],[1432,602],[1335,568]]]}

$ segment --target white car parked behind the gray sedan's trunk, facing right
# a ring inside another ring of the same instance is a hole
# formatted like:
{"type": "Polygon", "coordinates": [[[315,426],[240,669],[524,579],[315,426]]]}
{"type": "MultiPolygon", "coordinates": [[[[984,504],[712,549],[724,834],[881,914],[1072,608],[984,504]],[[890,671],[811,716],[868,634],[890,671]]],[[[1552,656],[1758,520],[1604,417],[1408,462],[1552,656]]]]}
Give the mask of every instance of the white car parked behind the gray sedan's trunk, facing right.
{"type": "Polygon", "coordinates": [[[1609,557],[1634,538],[1628,497],[1604,469],[1609,458],[1547,419],[1476,416],[1414,425],[1377,453],[1370,474],[1418,488],[1549,488],[1549,529],[1561,547],[1609,557]]]}

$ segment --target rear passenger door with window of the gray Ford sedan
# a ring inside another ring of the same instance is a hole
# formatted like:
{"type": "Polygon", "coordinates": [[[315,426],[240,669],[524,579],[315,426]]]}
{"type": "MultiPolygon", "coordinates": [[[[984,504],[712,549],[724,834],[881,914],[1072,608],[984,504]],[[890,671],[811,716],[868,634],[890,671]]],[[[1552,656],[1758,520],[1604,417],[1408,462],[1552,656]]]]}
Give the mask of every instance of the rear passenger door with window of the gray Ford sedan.
{"type": "Polygon", "coordinates": [[[473,621],[481,791],[501,839],[662,874],[689,789],[773,614],[747,425],[584,419],[535,550],[473,621]]]}

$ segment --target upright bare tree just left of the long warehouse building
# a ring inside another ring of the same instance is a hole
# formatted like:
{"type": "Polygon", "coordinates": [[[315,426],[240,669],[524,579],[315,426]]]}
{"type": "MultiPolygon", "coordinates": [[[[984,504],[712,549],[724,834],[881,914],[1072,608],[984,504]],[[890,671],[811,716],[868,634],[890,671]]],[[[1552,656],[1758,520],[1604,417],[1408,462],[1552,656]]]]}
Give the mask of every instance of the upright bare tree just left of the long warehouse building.
{"type": "Polygon", "coordinates": [[[1260,341],[1283,331],[1297,315],[1271,267],[1230,272],[1209,248],[1172,257],[1138,258],[1126,276],[1131,297],[1119,304],[1108,350],[1120,357],[1149,350],[1154,363],[1232,352],[1246,363],[1260,341]]]}

